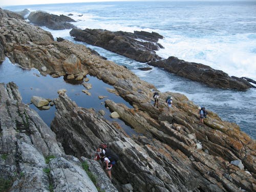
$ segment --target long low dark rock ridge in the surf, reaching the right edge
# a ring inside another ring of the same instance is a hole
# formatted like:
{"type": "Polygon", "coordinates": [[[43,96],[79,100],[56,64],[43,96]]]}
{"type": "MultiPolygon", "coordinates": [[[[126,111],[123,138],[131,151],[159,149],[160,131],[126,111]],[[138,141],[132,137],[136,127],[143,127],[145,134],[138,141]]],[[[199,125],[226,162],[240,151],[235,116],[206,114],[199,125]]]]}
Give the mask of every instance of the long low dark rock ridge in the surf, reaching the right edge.
{"type": "Polygon", "coordinates": [[[230,77],[223,71],[212,69],[201,63],[187,62],[173,56],[167,59],[151,61],[148,65],[163,68],[166,71],[194,81],[203,82],[210,87],[238,91],[255,88],[244,78],[230,77]]]}

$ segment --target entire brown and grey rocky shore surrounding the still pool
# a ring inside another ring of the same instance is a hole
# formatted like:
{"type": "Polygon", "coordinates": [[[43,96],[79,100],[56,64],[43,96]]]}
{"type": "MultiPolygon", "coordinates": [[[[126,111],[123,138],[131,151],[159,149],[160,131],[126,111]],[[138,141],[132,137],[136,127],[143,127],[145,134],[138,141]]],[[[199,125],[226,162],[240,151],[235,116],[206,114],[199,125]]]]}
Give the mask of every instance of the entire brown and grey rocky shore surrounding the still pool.
{"type": "Polygon", "coordinates": [[[94,109],[80,108],[63,91],[54,99],[57,111],[48,127],[22,102],[15,83],[0,83],[0,173],[9,191],[256,190],[256,143],[238,125],[210,111],[205,124],[199,125],[197,106],[178,93],[161,93],[155,108],[154,85],[123,66],[85,46],[54,41],[49,32],[2,9],[0,18],[2,60],[7,56],[52,77],[96,76],[133,108],[108,99],[105,105],[143,134],[129,137],[118,124],[94,109]],[[170,112],[168,95],[174,98],[170,112]],[[92,160],[102,142],[120,157],[112,182],[92,160]],[[89,173],[97,177],[96,183],[89,173]]]}

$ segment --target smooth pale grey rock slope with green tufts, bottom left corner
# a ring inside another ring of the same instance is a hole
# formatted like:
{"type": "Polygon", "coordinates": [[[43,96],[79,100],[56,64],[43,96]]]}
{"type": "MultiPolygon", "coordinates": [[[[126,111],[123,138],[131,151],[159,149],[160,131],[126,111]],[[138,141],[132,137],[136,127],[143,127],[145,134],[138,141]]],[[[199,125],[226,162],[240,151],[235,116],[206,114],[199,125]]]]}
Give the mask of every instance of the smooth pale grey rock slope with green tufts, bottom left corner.
{"type": "Polygon", "coordinates": [[[82,162],[64,153],[13,82],[0,83],[0,106],[1,191],[98,191],[82,162]]]}

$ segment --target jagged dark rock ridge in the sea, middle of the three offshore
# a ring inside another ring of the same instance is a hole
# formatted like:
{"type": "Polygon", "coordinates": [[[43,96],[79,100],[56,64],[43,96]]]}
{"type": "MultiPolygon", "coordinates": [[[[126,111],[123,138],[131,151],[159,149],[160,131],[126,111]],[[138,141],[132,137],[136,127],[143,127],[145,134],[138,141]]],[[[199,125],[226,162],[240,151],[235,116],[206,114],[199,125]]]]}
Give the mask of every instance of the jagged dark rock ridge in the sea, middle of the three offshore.
{"type": "Polygon", "coordinates": [[[70,35],[74,36],[77,41],[102,47],[136,61],[149,62],[161,58],[155,51],[160,49],[156,42],[163,36],[155,32],[135,31],[129,33],[102,29],[72,29],[70,35]]]}

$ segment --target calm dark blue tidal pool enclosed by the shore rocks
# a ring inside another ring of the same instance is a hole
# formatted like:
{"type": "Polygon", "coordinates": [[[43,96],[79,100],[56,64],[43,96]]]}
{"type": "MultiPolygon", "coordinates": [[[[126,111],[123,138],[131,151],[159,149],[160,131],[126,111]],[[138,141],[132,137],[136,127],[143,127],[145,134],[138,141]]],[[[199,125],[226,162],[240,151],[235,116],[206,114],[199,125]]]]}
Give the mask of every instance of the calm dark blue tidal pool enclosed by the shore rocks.
{"type": "MultiPolygon", "coordinates": [[[[66,89],[66,94],[71,100],[75,101],[78,106],[82,108],[94,108],[96,111],[104,110],[104,118],[111,122],[118,122],[123,130],[128,135],[138,135],[129,125],[126,125],[120,119],[110,118],[110,111],[105,108],[104,100],[111,99],[116,103],[124,103],[129,108],[132,106],[119,96],[108,92],[106,89],[114,89],[107,83],[99,80],[97,77],[89,76],[88,83],[92,84],[92,89],[89,90],[91,96],[82,92],[85,88],[82,84],[71,84],[66,82],[63,77],[53,78],[49,75],[42,76],[35,69],[22,69],[19,66],[13,65],[8,58],[0,64],[0,82],[8,83],[13,81],[17,84],[19,92],[23,97],[24,103],[30,103],[32,96],[39,96],[43,98],[55,99],[58,97],[57,91],[60,89],[66,89]],[[104,99],[99,99],[98,96],[106,96],[104,99]]],[[[39,116],[50,127],[51,121],[54,118],[56,111],[55,107],[51,107],[50,110],[39,110],[33,104],[30,104],[30,108],[34,109],[39,116]]]]}

